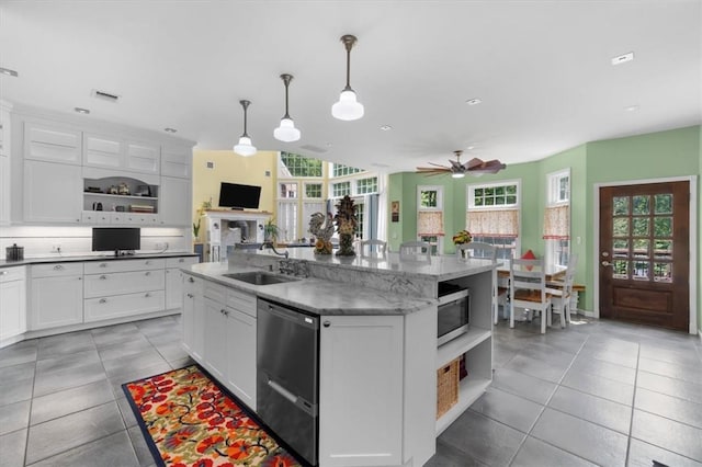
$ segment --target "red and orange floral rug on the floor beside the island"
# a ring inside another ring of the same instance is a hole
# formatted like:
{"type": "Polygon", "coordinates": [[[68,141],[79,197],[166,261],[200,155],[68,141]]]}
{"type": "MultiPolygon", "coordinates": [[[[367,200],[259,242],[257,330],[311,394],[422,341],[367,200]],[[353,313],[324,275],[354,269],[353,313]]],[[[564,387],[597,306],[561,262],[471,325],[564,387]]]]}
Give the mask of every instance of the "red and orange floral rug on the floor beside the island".
{"type": "Polygon", "coordinates": [[[122,387],[161,466],[301,465],[196,365],[122,387]]]}

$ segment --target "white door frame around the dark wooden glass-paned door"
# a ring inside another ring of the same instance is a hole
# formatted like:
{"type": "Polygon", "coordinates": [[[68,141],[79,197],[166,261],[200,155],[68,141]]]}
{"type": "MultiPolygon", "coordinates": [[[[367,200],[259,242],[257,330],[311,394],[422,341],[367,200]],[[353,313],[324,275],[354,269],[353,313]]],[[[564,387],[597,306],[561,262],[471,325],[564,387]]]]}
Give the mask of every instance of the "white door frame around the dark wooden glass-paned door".
{"type": "Polygon", "coordinates": [[[596,183],[593,185],[593,223],[592,223],[592,283],[595,285],[595,294],[593,294],[593,312],[596,318],[600,318],[600,189],[607,186],[619,186],[619,185],[637,185],[637,184],[649,184],[649,183],[661,183],[661,182],[682,182],[687,181],[690,183],[690,267],[689,267],[689,277],[690,277],[690,320],[689,320],[689,330],[691,334],[698,332],[700,323],[698,322],[698,295],[702,293],[700,289],[700,276],[697,274],[698,270],[698,258],[699,258],[699,232],[698,232],[698,183],[697,176],[672,176],[665,179],[647,179],[647,180],[625,180],[621,182],[607,182],[607,183],[596,183]]]}

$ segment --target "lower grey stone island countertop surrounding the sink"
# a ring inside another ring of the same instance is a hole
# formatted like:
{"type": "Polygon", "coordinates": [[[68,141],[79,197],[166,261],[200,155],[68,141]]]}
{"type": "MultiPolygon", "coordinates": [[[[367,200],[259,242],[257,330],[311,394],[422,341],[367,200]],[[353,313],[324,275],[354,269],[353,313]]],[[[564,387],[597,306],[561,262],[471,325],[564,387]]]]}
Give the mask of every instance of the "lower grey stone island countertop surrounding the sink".
{"type": "Polygon", "coordinates": [[[223,276],[223,274],[233,272],[263,271],[251,266],[230,267],[228,264],[200,263],[193,264],[184,271],[194,276],[249,292],[260,298],[301,308],[315,315],[407,315],[435,305],[435,300],[427,298],[408,297],[314,277],[298,278],[281,284],[252,285],[223,276]]]}

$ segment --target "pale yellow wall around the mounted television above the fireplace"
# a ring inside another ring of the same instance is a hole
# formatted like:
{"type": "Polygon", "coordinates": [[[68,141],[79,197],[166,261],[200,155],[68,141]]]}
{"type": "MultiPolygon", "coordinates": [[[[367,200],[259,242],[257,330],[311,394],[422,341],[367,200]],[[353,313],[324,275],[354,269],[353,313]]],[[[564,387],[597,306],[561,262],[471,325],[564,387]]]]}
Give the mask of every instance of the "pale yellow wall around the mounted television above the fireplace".
{"type": "MultiPolygon", "coordinates": [[[[233,151],[193,151],[193,220],[205,201],[217,207],[219,183],[241,183],[261,186],[259,210],[274,212],[276,151],[259,151],[253,157],[241,157],[233,151]],[[214,164],[207,168],[207,162],[214,164]],[[268,172],[268,175],[265,174],[268,172]]],[[[202,236],[202,230],[200,235],[202,236]]]]}

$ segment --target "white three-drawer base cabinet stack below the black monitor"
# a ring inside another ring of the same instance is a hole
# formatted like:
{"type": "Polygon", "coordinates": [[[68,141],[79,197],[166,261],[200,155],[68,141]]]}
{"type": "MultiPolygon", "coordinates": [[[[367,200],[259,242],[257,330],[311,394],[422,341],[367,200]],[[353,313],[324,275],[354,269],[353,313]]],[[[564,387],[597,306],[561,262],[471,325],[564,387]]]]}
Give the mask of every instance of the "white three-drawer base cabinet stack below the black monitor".
{"type": "Polygon", "coordinates": [[[162,310],[165,266],[162,259],[86,263],[86,322],[162,310]]]}

